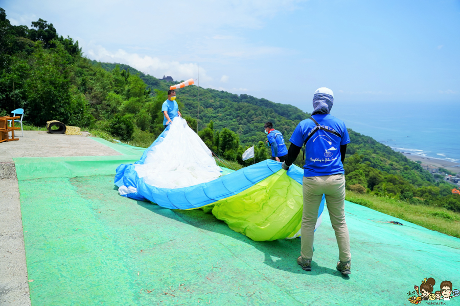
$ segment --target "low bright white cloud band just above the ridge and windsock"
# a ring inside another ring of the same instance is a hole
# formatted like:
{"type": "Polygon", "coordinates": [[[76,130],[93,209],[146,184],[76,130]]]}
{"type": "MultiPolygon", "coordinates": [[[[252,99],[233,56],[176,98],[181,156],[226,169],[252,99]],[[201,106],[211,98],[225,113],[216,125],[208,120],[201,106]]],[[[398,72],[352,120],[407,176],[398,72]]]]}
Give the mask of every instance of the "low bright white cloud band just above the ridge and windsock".
{"type": "MultiPolygon", "coordinates": [[[[117,52],[110,52],[100,45],[88,46],[87,56],[100,62],[127,64],[156,78],[171,75],[177,81],[190,78],[196,79],[198,71],[196,63],[166,61],[157,57],[128,53],[123,49],[118,49],[117,52]]],[[[200,67],[200,79],[202,81],[212,81],[212,78],[206,75],[206,70],[202,67],[200,67]]]]}

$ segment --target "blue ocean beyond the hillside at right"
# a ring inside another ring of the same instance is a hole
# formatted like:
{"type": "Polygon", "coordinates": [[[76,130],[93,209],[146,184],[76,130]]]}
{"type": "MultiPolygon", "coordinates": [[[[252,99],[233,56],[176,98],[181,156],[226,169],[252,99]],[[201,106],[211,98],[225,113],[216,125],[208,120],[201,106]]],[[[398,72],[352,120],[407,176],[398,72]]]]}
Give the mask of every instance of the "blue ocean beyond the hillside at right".
{"type": "Polygon", "coordinates": [[[331,115],[396,151],[460,162],[460,103],[334,101],[331,115]]]}

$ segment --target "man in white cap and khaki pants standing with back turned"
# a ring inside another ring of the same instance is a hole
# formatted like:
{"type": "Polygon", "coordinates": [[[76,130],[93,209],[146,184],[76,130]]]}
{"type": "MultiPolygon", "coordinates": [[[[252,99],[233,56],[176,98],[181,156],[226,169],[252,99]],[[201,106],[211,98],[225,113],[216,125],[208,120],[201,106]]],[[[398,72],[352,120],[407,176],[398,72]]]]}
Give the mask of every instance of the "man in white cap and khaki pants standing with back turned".
{"type": "Polygon", "coordinates": [[[337,270],[350,274],[350,237],[345,222],[345,171],[343,161],[350,142],[343,121],[331,116],[334,93],[326,87],[315,91],[311,118],[301,121],[289,141],[288,156],[283,169],[288,170],[305,145],[303,178],[304,209],[301,228],[301,256],[297,263],[311,271],[313,238],[318,218],[318,209],[326,195],[329,216],[339,248],[337,270]]]}

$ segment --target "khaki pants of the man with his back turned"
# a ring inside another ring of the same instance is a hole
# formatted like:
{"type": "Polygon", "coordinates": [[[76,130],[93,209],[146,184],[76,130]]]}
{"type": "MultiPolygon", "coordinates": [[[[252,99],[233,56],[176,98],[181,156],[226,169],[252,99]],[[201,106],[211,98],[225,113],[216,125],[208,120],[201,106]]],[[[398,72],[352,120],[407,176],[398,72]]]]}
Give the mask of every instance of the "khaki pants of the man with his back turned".
{"type": "Polygon", "coordinates": [[[309,176],[303,179],[304,211],[301,230],[301,255],[303,260],[313,258],[313,238],[323,194],[335,231],[339,248],[339,260],[350,262],[350,236],[345,223],[345,175],[309,176]]]}

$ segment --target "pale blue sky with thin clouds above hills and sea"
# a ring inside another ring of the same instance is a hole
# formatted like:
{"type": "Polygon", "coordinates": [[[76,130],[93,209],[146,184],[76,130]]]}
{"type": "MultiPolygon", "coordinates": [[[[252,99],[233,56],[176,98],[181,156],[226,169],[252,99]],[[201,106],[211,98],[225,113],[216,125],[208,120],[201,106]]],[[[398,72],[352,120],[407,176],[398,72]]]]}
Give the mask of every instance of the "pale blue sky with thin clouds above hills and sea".
{"type": "Polygon", "coordinates": [[[85,55],[162,78],[310,110],[344,103],[460,101],[460,1],[0,0],[13,24],[38,18],[85,55]]]}

